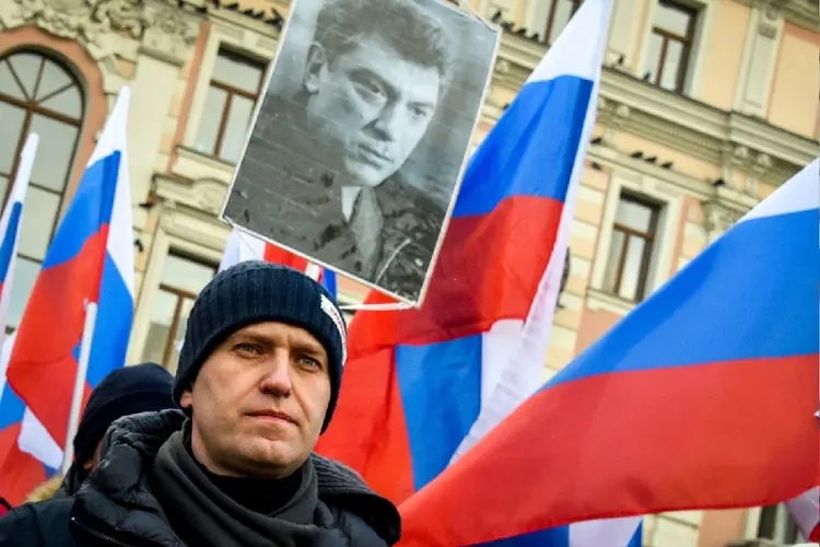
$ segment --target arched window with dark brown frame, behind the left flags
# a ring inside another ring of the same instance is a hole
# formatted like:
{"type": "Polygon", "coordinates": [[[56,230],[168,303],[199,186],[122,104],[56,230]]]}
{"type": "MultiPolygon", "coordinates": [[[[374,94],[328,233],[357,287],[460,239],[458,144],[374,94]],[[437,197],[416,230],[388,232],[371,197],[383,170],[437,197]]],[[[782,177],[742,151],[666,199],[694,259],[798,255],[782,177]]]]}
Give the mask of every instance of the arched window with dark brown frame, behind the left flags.
{"type": "Polygon", "coordinates": [[[0,197],[9,199],[25,139],[39,136],[23,208],[9,326],[20,322],[54,235],[71,177],[84,115],[83,89],[72,72],[39,51],[0,57],[0,197]]]}

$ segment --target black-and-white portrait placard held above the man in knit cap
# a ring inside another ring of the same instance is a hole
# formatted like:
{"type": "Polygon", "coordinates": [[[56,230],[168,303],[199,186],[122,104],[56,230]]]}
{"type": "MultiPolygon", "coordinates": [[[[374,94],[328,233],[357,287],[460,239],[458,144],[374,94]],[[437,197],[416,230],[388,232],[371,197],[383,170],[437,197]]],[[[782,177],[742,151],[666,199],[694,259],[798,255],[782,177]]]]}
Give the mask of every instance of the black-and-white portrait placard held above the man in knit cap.
{"type": "Polygon", "coordinates": [[[296,0],[223,220],[420,305],[497,42],[441,0],[296,0]]]}

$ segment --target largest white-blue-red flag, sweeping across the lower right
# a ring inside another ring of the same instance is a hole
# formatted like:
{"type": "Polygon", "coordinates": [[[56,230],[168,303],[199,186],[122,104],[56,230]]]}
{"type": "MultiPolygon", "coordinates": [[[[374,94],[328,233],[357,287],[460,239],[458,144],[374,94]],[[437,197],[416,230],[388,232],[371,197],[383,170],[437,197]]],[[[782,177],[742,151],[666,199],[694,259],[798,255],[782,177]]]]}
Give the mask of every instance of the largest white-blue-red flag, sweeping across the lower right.
{"type": "Polygon", "coordinates": [[[816,160],[411,498],[402,545],[817,486],[819,179],[816,160]]]}

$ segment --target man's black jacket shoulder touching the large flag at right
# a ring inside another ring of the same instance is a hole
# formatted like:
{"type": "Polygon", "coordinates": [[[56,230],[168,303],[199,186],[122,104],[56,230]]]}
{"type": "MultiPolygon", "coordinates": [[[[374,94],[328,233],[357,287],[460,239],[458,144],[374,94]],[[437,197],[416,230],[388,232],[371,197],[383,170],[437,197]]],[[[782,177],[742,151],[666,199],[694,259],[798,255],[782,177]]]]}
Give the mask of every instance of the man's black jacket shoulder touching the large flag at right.
{"type": "Polygon", "coordinates": [[[351,545],[395,545],[401,537],[401,517],[389,500],[378,496],[364,479],[339,462],[313,454],[319,500],[333,512],[351,545]]]}

